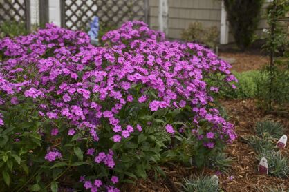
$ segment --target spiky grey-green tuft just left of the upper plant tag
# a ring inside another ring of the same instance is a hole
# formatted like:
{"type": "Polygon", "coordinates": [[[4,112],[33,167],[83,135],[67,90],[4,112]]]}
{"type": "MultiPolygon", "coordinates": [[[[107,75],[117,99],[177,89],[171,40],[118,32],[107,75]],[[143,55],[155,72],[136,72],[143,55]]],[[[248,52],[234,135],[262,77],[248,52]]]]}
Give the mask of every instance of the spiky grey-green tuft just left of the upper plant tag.
{"type": "Polygon", "coordinates": [[[247,138],[247,142],[257,153],[264,153],[265,151],[270,151],[274,148],[274,144],[268,135],[263,138],[250,135],[247,138]]]}

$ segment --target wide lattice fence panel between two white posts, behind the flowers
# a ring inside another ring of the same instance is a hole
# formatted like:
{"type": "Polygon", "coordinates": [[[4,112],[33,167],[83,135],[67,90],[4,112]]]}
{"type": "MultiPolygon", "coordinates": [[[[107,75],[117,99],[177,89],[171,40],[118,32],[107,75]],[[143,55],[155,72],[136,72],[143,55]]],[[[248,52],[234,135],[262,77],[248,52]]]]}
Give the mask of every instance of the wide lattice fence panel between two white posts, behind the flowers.
{"type": "Polygon", "coordinates": [[[149,0],[62,0],[60,8],[62,27],[72,30],[86,28],[93,16],[111,26],[130,20],[149,23],[149,0]]]}

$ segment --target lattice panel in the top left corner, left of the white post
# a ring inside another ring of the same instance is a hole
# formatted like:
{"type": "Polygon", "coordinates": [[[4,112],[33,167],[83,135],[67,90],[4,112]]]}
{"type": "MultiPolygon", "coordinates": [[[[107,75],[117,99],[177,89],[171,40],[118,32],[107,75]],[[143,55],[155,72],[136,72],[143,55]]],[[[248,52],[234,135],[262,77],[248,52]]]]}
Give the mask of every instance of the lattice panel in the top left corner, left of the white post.
{"type": "Polygon", "coordinates": [[[0,25],[5,21],[24,22],[30,29],[30,0],[0,0],[0,25]]]}

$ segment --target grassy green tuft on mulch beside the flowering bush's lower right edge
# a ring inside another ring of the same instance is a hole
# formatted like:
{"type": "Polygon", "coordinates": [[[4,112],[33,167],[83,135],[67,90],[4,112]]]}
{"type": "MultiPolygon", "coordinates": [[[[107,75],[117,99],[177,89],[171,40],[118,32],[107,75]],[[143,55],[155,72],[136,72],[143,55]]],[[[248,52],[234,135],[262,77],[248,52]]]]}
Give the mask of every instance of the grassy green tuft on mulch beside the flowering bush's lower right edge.
{"type": "Polygon", "coordinates": [[[209,157],[206,164],[213,169],[221,171],[221,173],[228,173],[233,161],[234,159],[232,157],[228,157],[225,153],[221,152],[209,157]]]}

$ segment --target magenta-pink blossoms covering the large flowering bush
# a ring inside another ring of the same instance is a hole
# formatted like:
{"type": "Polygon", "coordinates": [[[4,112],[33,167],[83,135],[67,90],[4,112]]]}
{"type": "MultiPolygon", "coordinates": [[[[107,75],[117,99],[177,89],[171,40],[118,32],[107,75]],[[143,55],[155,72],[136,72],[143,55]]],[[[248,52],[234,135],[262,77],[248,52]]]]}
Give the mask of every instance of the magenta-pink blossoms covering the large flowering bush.
{"type": "MultiPolygon", "coordinates": [[[[224,84],[233,88],[236,81],[230,64],[212,50],[166,41],[161,32],[140,21],[124,23],[102,39],[106,46],[94,47],[84,32],[52,24],[27,36],[0,39],[0,105],[17,104],[17,97],[32,99],[40,117],[66,119],[68,135],[86,131],[94,142],[102,137],[104,126],[111,129],[113,142],[146,128],[148,122],[127,122],[120,117],[132,104],[149,111],[187,107],[192,111],[192,125],[197,127],[201,120],[210,124],[209,133],[203,133],[207,135],[198,135],[209,140],[208,148],[214,147],[214,140],[236,138],[234,126],[210,105],[212,93],[221,87],[209,87],[209,75],[221,74],[224,84]]],[[[167,124],[165,129],[173,135],[173,126],[167,124]]],[[[50,134],[57,135],[58,130],[50,134]]],[[[94,153],[87,151],[87,155],[94,153]]],[[[59,151],[50,151],[45,159],[51,162],[61,157],[59,151]]],[[[113,168],[113,151],[98,153],[95,162],[113,168]]],[[[98,187],[89,182],[84,185],[91,191],[98,187]]]]}

